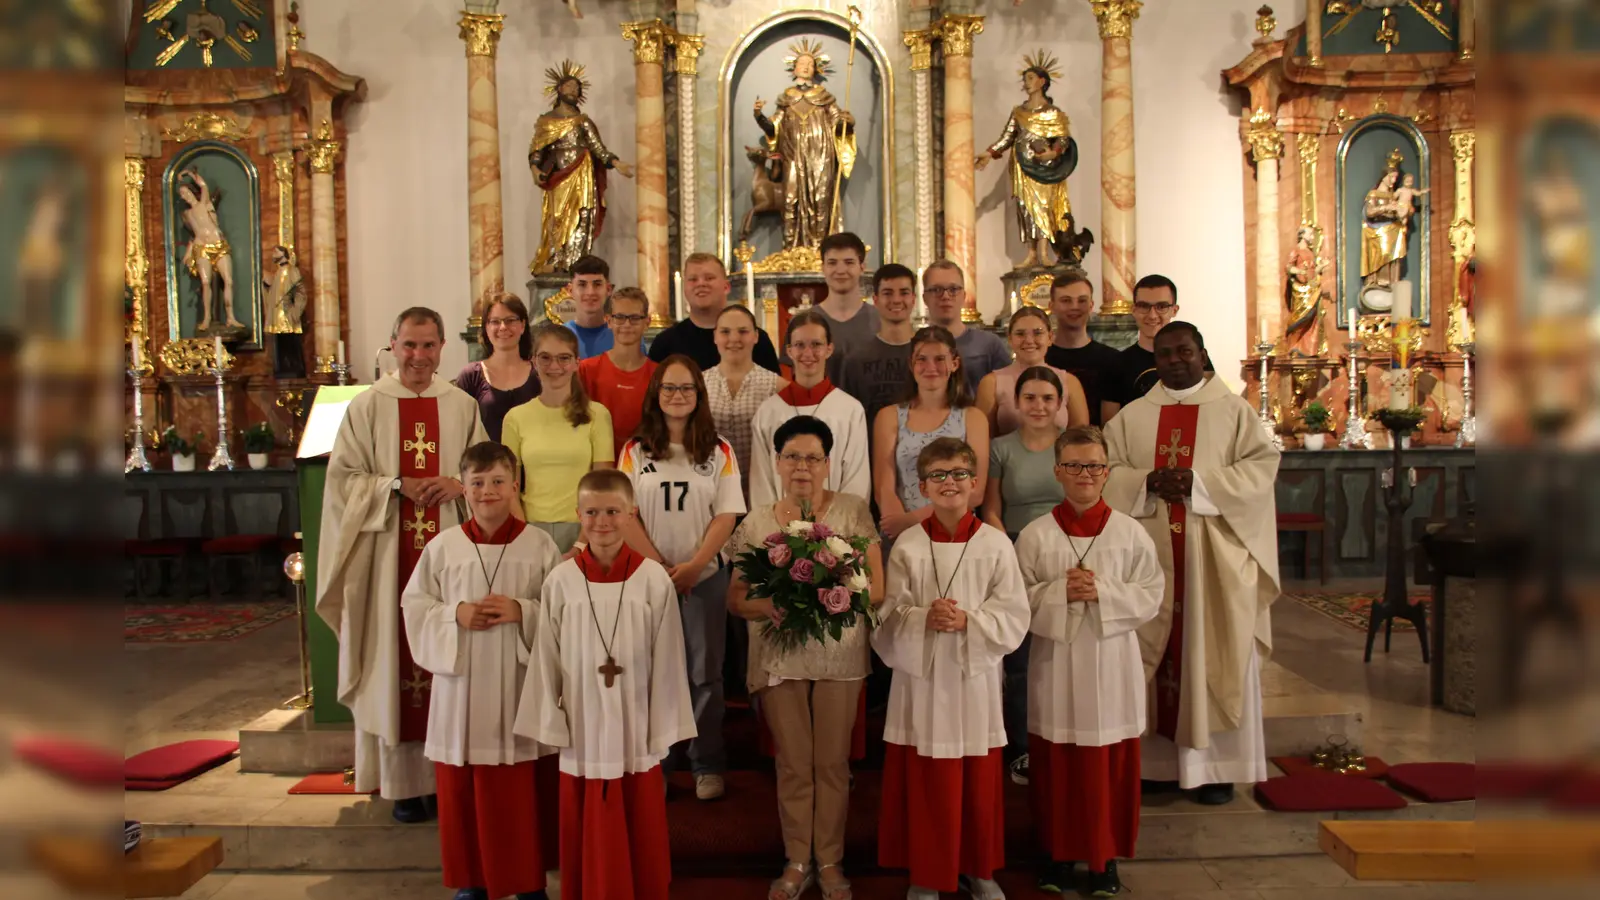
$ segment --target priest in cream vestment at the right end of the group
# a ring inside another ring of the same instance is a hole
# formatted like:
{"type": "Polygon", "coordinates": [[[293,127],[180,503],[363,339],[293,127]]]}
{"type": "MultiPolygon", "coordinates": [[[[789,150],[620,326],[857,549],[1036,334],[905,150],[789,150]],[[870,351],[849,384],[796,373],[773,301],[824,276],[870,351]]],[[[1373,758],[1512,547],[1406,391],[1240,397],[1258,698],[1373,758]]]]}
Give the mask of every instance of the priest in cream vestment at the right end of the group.
{"type": "Polygon", "coordinates": [[[1216,806],[1235,783],[1267,778],[1261,663],[1278,596],[1278,452],[1206,359],[1187,322],[1155,335],[1160,384],[1106,426],[1106,501],[1144,525],[1168,577],[1160,615],[1139,629],[1152,709],[1144,777],[1216,806]]]}

